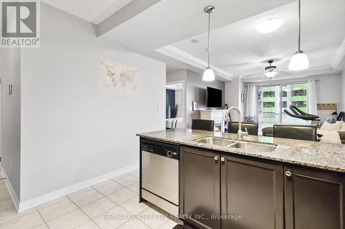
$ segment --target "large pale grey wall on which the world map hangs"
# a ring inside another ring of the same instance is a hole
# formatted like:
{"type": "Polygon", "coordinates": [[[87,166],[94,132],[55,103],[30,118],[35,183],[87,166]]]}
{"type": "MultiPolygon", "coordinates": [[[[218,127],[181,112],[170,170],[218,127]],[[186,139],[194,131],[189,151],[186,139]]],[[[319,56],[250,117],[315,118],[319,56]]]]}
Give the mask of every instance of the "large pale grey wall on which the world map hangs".
{"type": "Polygon", "coordinates": [[[41,47],[22,50],[23,201],[139,162],[136,133],[165,129],[166,65],[41,3],[41,47]],[[139,96],[99,95],[99,58],[139,68],[139,96]]]}

